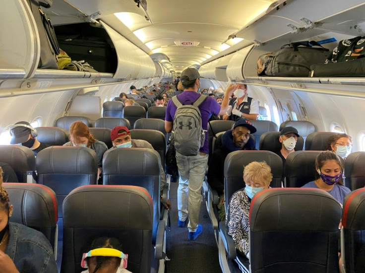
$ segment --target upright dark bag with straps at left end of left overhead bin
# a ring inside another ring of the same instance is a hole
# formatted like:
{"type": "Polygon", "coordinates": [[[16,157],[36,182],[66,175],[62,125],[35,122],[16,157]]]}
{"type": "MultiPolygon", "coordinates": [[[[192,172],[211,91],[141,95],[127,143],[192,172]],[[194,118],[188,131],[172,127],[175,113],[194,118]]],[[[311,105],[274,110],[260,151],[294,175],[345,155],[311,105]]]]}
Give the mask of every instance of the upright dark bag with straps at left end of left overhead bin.
{"type": "Polygon", "coordinates": [[[57,43],[51,19],[47,17],[42,9],[42,6],[50,7],[52,0],[28,0],[27,2],[39,33],[41,54],[38,68],[58,69],[57,55],[60,54],[60,47],[57,43]]]}

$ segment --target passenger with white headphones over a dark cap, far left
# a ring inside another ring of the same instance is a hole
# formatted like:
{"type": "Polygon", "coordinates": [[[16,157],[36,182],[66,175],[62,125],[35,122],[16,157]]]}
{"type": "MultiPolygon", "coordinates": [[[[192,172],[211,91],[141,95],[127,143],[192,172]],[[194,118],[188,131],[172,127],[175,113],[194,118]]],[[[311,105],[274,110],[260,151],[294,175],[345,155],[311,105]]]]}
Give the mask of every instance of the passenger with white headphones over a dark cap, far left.
{"type": "Polygon", "coordinates": [[[19,121],[10,128],[10,144],[21,144],[22,146],[32,149],[34,155],[41,150],[51,146],[47,143],[41,143],[37,140],[37,131],[30,126],[29,122],[19,121]]]}

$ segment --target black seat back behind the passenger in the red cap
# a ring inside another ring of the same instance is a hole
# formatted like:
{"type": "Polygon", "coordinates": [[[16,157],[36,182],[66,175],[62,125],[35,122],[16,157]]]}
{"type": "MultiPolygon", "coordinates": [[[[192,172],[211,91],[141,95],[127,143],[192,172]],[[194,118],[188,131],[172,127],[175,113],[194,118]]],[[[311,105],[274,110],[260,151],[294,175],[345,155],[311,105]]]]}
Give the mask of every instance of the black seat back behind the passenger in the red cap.
{"type": "Polygon", "coordinates": [[[161,164],[165,164],[166,154],[166,138],[165,135],[157,130],[133,129],[130,130],[130,137],[132,139],[146,140],[152,147],[160,154],[161,164]]]}

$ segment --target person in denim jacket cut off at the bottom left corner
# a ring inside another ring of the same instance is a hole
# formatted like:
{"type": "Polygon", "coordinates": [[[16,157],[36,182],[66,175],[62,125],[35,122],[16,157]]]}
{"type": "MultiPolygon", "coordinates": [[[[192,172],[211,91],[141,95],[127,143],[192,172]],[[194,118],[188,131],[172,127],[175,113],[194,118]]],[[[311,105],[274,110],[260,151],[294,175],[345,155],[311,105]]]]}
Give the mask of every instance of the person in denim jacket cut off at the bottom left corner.
{"type": "Polygon", "coordinates": [[[33,228],[9,222],[12,212],[0,168],[0,272],[58,273],[47,238],[33,228]]]}

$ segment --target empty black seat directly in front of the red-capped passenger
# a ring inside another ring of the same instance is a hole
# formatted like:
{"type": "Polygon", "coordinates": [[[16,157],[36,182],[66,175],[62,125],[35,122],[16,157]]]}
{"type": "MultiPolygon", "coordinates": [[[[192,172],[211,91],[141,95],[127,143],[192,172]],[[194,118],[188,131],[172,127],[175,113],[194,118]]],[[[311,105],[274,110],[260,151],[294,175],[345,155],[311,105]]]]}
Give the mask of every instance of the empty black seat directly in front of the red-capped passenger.
{"type": "Polygon", "coordinates": [[[104,185],[132,185],[147,189],[153,200],[153,243],[160,220],[161,157],[152,149],[114,148],[103,158],[104,185]]]}

